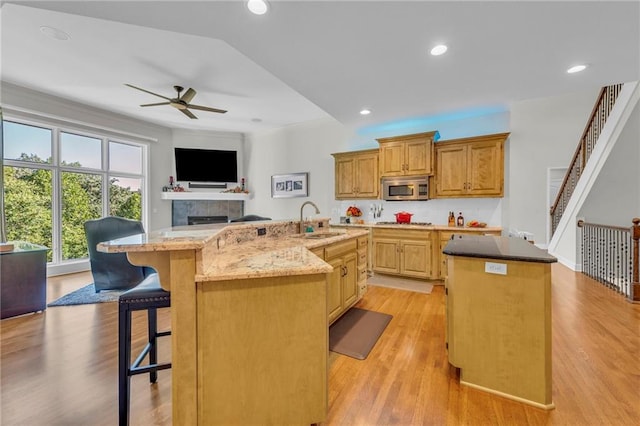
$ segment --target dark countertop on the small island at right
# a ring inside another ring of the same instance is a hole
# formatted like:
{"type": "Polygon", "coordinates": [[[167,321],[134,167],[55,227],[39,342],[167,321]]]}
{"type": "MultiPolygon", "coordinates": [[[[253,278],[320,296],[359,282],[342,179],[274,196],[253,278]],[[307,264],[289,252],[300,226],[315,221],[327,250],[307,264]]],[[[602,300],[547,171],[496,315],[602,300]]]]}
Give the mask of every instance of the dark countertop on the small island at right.
{"type": "Polygon", "coordinates": [[[554,263],[558,259],[533,244],[515,237],[456,235],[442,250],[444,254],[463,257],[554,263]]]}

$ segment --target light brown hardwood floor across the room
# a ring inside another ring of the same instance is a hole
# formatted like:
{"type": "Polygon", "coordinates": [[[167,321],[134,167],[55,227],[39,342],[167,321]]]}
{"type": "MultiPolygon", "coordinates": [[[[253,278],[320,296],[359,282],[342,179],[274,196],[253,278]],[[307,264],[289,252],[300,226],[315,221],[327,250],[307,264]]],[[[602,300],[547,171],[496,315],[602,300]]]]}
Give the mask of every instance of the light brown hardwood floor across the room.
{"type": "MultiPolygon", "coordinates": [[[[48,300],[91,281],[49,279],[48,300]]],[[[544,411],[462,386],[444,348],[443,287],[370,287],[359,307],[394,316],[369,357],[331,354],[324,425],[635,425],[640,305],[553,266],[553,398],[544,411]]],[[[169,327],[169,312],[159,315],[169,327]]],[[[117,423],[117,303],[48,308],[2,320],[2,425],[117,423]]],[[[134,317],[134,346],[144,323],[134,317]]],[[[170,358],[167,339],[162,359],[170,358]]],[[[171,370],[132,379],[131,423],[171,424],[171,370]]]]}

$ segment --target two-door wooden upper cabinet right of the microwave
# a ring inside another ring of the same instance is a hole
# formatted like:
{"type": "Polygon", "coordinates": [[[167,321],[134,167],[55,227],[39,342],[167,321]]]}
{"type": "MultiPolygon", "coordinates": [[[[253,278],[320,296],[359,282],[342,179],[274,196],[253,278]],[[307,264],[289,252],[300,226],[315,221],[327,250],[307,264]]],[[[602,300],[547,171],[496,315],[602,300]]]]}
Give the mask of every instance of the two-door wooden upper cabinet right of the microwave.
{"type": "Polygon", "coordinates": [[[435,194],[447,197],[502,197],[504,141],[509,133],[435,144],[435,194]]]}

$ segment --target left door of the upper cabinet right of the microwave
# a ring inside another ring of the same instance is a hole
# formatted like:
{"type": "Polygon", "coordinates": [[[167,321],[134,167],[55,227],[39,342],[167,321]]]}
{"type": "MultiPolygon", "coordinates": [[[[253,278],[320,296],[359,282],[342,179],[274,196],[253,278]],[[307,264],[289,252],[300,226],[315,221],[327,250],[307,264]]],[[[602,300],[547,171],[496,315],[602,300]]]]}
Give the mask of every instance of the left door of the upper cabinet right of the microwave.
{"type": "Polygon", "coordinates": [[[467,147],[436,148],[436,196],[464,195],[467,182],[467,147]]]}

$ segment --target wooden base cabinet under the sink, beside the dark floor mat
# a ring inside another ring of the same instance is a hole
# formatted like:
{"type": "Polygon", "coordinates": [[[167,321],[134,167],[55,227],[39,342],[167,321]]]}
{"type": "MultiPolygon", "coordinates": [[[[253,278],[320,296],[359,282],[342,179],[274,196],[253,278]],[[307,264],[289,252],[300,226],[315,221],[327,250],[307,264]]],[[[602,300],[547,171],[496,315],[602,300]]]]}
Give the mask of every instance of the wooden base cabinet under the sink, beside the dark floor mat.
{"type": "Polygon", "coordinates": [[[326,246],[324,260],[333,268],[327,290],[327,314],[331,324],[358,300],[358,239],[326,246]]]}

